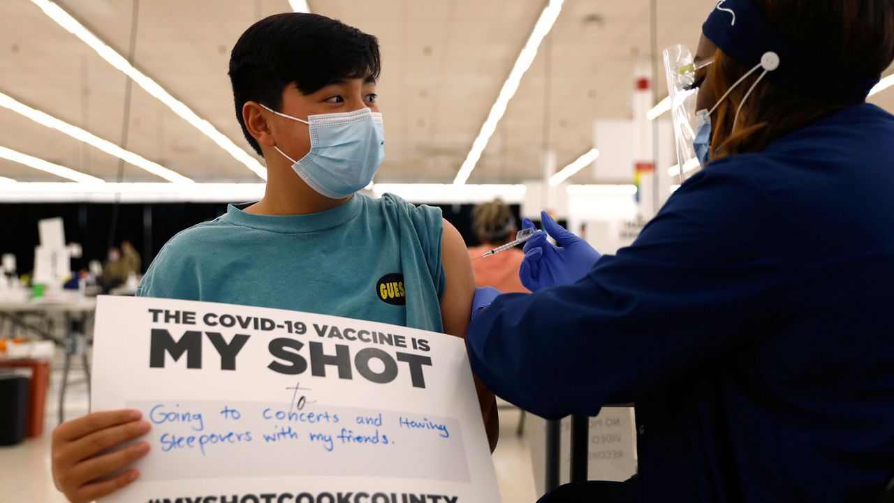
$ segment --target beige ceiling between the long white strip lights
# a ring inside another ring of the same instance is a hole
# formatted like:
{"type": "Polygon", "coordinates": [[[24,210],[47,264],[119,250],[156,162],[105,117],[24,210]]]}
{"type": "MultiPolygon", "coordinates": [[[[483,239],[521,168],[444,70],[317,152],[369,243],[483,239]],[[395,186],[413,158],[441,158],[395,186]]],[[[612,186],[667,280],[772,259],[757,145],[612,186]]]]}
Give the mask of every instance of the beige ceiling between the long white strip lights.
{"type": "MultiPolygon", "coordinates": [[[[60,0],[125,57],[134,0],[60,0]]],[[[695,46],[713,0],[656,2],[659,49],[695,46]]],[[[379,38],[378,86],[387,138],[376,181],[451,182],[544,8],[542,0],[311,0],[312,12],[379,38]]],[[[561,167],[592,147],[595,119],[629,119],[634,67],[651,56],[649,0],[566,0],[469,183],[541,176],[544,143],[561,167]]],[[[143,0],[134,66],[236,145],[226,75],[230,49],[286,0],[143,0]]],[[[890,73],[890,71],[889,71],[890,73]]],[[[122,137],[127,77],[30,0],[0,2],[0,92],[203,182],[257,182],[253,172],[139,86],[122,137]]],[[[666,93],[659,91],[661,98],[666,93]]],[[[894,89],[871,100],[894,110],[894,89]]],[[[164,181],[0,108],[0,147],[114,181],[164,181]]],[[[254,154],[252,154],[254,155],[254,154]]],[[[261,160],[263,163],[263,160],[261,160]]],[[[65,181],[0,159],[0,176],[65,181]]],[[[572,179],[587,182],[583,170],[572,179]]]]}

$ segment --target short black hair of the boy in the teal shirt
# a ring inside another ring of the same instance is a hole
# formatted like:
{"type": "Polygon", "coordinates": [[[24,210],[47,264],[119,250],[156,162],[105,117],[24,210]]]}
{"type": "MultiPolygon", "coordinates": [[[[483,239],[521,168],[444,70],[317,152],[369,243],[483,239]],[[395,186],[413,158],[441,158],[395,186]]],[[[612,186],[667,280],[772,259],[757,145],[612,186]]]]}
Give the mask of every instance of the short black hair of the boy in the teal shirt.
{"type": "Polygon", "coordinates": [[[251,25],[232,47],[230,82],[236,119],[251,147],[261,147],[242,120],[242,105],[279,110],[292,82],[303,94],[342,79],[378,80],[379,43],[372,35],[319,14],[282,13],[251,25]]]}

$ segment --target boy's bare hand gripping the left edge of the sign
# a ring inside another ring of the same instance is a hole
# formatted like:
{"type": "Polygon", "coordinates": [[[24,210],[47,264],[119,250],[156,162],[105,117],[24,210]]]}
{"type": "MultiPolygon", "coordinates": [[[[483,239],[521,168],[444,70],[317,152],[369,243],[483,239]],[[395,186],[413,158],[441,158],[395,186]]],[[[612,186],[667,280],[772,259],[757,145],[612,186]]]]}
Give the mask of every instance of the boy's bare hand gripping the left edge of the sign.
{"type": "Polygon", "coordinates": [[[140,421],[140,417],[138,410],[95,412],[56,427],[52,457],[56,489],[72,503],[87,503],[136,480],[139,473],[133,468],[110,479],[104,478],[148,453],[146,441],[124,449],[106,450],[148,433],[151,426],[140,421]]]}

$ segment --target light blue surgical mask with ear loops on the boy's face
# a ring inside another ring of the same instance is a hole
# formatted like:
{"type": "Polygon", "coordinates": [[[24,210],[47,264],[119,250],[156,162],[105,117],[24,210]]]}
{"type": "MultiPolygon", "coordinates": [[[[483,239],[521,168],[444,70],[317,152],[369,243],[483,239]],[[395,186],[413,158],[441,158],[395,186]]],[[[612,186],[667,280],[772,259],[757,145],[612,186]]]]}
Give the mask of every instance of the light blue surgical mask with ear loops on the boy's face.
{"type": "Polygon", "coordinates": [[[342,199],[373,180],[384,158],[381,113],[362,108],[354,112],[308,115],[304,121],[261,106],[286,119],[308,124],[308,155],[296,161],[279,147],[274,148],[291,161],[291,168],[311,189],[325,197],[342,199]]]}

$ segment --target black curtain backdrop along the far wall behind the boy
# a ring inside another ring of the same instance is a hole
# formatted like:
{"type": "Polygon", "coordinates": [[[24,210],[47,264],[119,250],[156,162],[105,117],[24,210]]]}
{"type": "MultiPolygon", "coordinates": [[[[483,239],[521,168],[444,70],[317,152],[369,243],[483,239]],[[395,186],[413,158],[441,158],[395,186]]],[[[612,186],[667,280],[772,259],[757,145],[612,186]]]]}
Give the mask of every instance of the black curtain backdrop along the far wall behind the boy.
{"type": "MultiPolygon", "coordinates": [[[[62,217],[65,241],[80,243],[84,255],[72,260],[72,270],[86,269],[90,260],[105,261],[112,223],[113,204],[34,203],[0,204],[0,254],[16,256],[18,272],[30,272],[34,266],[34,247],[38,245],[38,220],[62,217]]],[[[472,230],[474,205],[436,205],[451,222],[468,246],[478,243],[472,230]]],[[[517,222],[519,205],[510,205],[517,222]]],[[[199,222],[214,220],[226,212],[223,203],[122,204],[118,214],[114,246],[130,240],[143,259],[143,271],[174,234],[199,222]]]]}

